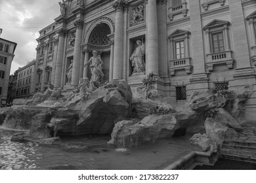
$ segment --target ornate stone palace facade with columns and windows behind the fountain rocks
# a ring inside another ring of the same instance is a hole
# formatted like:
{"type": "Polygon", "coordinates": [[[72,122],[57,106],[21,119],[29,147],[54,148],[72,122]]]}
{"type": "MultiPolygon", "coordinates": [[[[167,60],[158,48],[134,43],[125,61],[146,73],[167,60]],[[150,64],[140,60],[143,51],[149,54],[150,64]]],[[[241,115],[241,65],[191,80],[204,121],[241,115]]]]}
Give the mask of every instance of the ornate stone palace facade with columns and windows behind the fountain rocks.
{"type": "MultiPolygon", "coordinates": [[[[255,0],[59,4],[60,16],[37,39],[35,91],[45,90],[49,81],[68,91],[79,78],[91,78],[91,65],[83,65],[93,50],[104,63],[100,82],[125,79],[135,95],[150,73],[158,76],[158,95],[172,103],[209,88],[253,85],[256,91],[255,0]]],[[[248,120],[255,119],[255,108],[256,92],[246,104],[248,120]]]]}

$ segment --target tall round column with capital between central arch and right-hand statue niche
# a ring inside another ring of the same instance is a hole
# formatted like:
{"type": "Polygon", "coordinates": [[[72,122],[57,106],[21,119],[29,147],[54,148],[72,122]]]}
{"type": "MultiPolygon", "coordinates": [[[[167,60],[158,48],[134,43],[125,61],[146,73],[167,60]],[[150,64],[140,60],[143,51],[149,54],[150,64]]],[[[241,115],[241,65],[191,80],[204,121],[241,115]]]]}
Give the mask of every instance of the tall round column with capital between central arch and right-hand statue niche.
{"type": "Polygon", "coordinates": [[[114,67],[113,79],[121,79],[123,67],[123,10],[128,5],[128,1],[117,0],[112,3],[116,9],[116,29],[115,29],[115,46],[114,46],[114,67]]]}

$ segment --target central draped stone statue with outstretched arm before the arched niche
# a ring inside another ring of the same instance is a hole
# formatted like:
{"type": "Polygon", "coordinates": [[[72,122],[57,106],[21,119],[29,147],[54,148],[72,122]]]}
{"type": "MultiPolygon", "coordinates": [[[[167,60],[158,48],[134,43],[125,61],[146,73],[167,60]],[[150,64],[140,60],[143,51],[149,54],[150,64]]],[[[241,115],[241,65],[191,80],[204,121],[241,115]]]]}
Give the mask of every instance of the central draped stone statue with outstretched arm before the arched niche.
{"type": "Polygon", "coordinates": [[[94,82],[96,84],[100,84],[100,77],[104,76],[104,73],[102,73],[103,61],[96,50],[93,51],[93,57],[91,57],[89,61],[85,63],[85,65],[83,65],[83,67],[85,67],[89,63],[91,63],[91,65],[89,65],[89,68],[92,75],[90,83],[94,82]]]}

